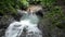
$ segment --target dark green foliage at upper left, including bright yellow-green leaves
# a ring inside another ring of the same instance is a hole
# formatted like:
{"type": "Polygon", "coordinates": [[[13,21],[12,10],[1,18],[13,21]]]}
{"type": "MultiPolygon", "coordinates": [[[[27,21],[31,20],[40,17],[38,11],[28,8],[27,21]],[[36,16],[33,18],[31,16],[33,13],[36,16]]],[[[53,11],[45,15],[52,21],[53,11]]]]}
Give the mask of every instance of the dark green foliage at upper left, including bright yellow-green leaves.
{"type": "Polygon", "coordinates": [[[16,14],[16,9],[27,8],[26,0],[0,0],[0,14],[16,14]]]}

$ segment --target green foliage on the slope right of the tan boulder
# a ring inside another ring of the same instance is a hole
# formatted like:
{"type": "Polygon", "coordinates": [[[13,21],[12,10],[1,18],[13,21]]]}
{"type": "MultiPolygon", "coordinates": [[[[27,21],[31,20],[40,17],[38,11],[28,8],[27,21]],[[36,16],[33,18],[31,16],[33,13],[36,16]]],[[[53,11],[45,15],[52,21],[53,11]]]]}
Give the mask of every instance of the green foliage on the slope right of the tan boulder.
{"type": "Polygon", "coordinates": [[[49,11],[46,14],[44,17],[50,18],[52,25],[57,26],[60,28],[64,27],[63,20],[65,21],[64,13],[62,11],[62,8],[58,5],[53,5],[56,0],[42,0],[43,7],[46,7],[49,11]]]}

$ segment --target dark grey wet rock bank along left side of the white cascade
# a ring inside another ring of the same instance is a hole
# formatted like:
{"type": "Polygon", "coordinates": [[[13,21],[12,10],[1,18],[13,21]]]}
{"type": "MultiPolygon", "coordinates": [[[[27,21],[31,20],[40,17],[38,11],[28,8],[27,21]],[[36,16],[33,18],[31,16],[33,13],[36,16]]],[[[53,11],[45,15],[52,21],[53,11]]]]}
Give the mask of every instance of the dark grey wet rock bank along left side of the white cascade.
{"type": "Polygon", "coordinates": [[[13,16],[4,15],[0,18],[0,37],[4,35],[6,27],[14,21],[13,16]]]}

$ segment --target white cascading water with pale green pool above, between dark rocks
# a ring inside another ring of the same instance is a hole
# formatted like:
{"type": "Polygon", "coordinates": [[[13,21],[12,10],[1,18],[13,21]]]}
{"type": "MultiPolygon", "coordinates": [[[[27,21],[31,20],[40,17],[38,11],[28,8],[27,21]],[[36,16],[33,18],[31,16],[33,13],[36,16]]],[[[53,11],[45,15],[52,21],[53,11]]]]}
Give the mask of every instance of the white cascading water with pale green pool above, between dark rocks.
{"type": "Polygon", "coordinates": [[[10,24],[5,37],[42,37],[41,30],[37,27],[38,22],[39,18],[36,14],[26,13],[20,22],[10,24]]]}

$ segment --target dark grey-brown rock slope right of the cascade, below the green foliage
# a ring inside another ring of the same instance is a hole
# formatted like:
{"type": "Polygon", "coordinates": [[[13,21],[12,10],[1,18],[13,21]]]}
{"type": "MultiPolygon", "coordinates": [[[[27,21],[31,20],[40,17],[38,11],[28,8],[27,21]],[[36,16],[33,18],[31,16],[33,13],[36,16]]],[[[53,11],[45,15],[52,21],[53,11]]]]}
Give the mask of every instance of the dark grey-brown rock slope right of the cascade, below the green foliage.
{"type": "Polygon", "coordinates": [[[65,37],[65,29],[60,29],[48,18],[42,18],[38,27],[42,30],[43,37],[65,37]]]}

